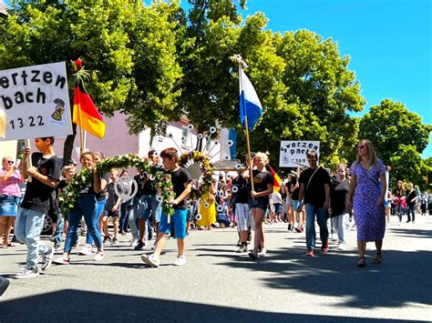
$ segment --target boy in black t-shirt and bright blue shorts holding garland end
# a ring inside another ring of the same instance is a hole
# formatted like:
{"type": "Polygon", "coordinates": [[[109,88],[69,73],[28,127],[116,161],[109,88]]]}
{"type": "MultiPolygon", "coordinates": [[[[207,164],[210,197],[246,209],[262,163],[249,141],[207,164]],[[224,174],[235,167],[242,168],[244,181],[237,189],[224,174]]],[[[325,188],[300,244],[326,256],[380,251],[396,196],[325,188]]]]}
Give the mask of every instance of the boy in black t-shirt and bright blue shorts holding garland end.
{"type": "MultiPolygon", "coordinates": [[[[190,195],[192,188],[192,177],[189,172],[180,167],[178,164],[179,154],[176,148],[167,148],[160,153],[163,161],[163,167],[171,176],[171,182],[175,193],[175,198],[171,199],[169,203],[174,208],[174,214],[170,217],[170,221],[174,225],[174,234],[177,238],[177,247],[179,254],[174,261],[174,265],[181,266],[186,264],[186,257],[184,256],[184,238],[186,237],[186,217],[188,216],[188,209],[186,198],[190,195]]],[[[142,255],[141,259],[151,267],[159,267],[159,256],[162,248],[165,245],[165,236],[170,233],[169,217],[162,211],[159,225],[158,241],[154,254],[142,255]]]]}

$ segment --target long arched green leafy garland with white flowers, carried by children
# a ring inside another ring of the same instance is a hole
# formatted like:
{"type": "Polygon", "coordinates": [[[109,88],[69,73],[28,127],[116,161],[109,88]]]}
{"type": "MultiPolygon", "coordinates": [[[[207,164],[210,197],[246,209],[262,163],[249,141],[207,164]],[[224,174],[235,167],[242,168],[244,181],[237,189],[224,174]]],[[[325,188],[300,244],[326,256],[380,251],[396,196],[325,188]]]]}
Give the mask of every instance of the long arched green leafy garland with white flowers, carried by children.
{"type": "MultiPolygon", "coordinates": [[[[108,173],[112,168],[137,167],[153,177],[155,186],[160,191],[162,197],[162,209],[167,216],[174,213],[172,205],[168,203],[175,197],[171,176],[159,167],[150,165],[149,160],[143,160],[138,155],[127,154],[114,157],[108,157],[103,162],[98,163],[98,175],[108,173]]],[[[79,173],[72,177],[72,180],[65,187],[64,192],[60,195],[59,200],[62,203],[62,210],[67,211],[77,205],[79,192],[85,189],[92,178],[91,170],[83,168],[79,173]]]]}

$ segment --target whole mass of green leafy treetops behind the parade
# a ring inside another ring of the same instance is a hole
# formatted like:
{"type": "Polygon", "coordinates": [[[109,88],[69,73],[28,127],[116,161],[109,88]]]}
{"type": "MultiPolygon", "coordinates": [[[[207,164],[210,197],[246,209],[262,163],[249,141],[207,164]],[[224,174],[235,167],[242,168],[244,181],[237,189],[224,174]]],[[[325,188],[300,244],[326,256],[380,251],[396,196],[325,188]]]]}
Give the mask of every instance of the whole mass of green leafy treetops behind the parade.
{"type": "Polygon", "coordinates": [[[427,167],[420,154],[431,127],[391,100],[352,116],[365,98],[337,43],[308,30],[273,33],[262,13],[239,15],[245,4],[189,0],[184,9],[180,0],[15,0],[0,17],[0,69],[81,58],[99,111],[129,116],[131,134],[146,127],[162,134],[169,121],[187,116],[201,132],[236,127],[241,156],[238,66],[231,59],[239,54],[263,106],[252,149],[269,151],[273,167],[281,140],[320,140],[321,163],[333,167],[353,160],[358,138],[368,138],[395,177],[422,182],[427,167]]]}

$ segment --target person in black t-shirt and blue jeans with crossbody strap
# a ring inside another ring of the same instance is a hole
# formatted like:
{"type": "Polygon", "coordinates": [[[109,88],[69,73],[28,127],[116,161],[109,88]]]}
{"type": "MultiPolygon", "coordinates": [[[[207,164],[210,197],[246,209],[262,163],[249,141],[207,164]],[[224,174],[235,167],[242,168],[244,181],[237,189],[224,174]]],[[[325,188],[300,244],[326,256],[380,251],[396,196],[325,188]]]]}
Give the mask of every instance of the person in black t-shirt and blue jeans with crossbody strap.
{"type": "Polygon", "coordinates": [[[299,201],[301,203],[297,207],[297,211],[300,212],[304,204],[306,208],[306,256],[314,257],[315,217],[320,227],[320,237],[323,243],[321,250],[324,253],[328,251],[327,218],[332,181],[327,171],[323,167],[318,167],[316,151],[310,150],[306,156],[310,167],[303,170],[299,178],[299,201]]]}

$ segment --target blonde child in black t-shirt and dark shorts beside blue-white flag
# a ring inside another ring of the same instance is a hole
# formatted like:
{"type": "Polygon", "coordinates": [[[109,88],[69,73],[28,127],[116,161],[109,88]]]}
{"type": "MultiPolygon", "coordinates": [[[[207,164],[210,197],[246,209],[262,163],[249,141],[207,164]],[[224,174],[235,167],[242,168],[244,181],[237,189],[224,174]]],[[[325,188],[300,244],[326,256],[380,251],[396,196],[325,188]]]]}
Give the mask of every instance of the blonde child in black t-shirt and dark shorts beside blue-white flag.
{"type": "Polygon", "coordinates": [[[273,175],[265,169],[268,163],[269,157],[264,153],[257,153],[253,157],[253,166],[256,169],[252,170],[253,187],[251,187],[249,199],[249,209],[251,210],[255,227],[253,250],[249,253],[249,257],[253,259],[257,259],[258,256],[264,256],[266,253],[262,221],[269,207],[269,196],[273,193],[273,175]]]}

